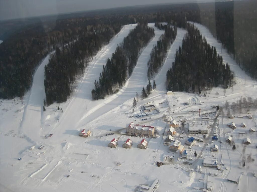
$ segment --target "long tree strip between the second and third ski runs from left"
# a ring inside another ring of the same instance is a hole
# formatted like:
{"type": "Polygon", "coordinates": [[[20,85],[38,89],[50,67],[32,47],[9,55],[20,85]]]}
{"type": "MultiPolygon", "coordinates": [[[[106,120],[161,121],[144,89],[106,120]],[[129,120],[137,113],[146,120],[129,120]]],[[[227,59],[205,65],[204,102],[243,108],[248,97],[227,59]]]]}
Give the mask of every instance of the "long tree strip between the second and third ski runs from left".
{"type": "Polygon", "coordinates": [[[117,92],[131,76],[143,48],[154,36],[154,29],[147,22],[138,23],[118,45],[111,59],[95,81],[95,89],[91,91],[92,99],[104,99],[106,95],[117,92]]]}

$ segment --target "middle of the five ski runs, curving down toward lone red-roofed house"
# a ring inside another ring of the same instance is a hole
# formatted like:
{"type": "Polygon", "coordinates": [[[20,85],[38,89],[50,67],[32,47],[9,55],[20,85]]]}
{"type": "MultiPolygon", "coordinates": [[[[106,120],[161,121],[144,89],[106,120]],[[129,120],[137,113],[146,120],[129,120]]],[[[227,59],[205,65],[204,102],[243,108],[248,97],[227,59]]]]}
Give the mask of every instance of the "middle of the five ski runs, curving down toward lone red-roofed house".
{"type": "Polygon", "coordinates": [[[164,30],[159,30],[158,28],[155,28],[154,23],[149,23],[148,25],[154,28],[155,36],[140,55],[137,61],[137,65],[132,73],[132,76],[127,80],[125,86],[123,86],[123,88],[115,95],[107,97],[104,100],[100,100],[100,103],[99,101],[97,101],[99,103],[97,105],[95,104],[95,101],[90,103],[88,111],[83,115],[77,126],[78,128],[85,127],[88,122],[114,109],[116,106],[124,103],[128,99],[135,97],[136,92],[140,94],[143,86],[146,86],[147,61],[150,57],[151,49],[153,48],[153,45],[157,44],[160,36],[164,33],[164,30]]]}

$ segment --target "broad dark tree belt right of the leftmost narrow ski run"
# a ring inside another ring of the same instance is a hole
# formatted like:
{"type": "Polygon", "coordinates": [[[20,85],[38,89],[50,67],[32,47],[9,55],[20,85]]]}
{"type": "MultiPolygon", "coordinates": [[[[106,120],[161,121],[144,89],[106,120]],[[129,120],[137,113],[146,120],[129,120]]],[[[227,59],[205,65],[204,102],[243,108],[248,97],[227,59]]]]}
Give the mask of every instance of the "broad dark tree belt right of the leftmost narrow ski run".
{"type": "Polygon", "coordinates": [[[75,80],[84,74],[88,62],[120,29],[120,24],[89,26],[87,33],[79,36],[78,40],[62,49],[56,47],[55,54],[50,56],[45,66],[44,85],[48,105],[67,100],[74,90],[75,80]]]}

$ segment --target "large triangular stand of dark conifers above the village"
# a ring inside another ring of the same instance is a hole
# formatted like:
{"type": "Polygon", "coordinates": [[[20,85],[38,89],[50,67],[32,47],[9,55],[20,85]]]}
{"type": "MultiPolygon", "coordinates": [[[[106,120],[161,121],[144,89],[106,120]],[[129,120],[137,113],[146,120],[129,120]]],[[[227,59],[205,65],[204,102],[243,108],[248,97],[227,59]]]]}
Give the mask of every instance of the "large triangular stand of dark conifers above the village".
{"type": "Polygon", "coordinates": [[[207,44],[194,25],[188,24],[187,31],[167,72],[167,90],[200,92],[217,86],[230,87],[233,72],[217,55],[216,48],[207,44]]]}

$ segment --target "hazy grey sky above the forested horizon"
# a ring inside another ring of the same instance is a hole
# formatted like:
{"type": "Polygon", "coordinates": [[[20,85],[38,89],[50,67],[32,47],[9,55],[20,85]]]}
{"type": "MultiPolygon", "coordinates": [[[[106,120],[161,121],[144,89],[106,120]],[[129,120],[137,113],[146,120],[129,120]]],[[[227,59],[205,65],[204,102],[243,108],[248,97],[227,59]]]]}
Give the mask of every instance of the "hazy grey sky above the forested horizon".
{"type": "Polygon", "coordinates": [[[131,5],[197,0],[0,0],[0,20],[131,5]]]}

